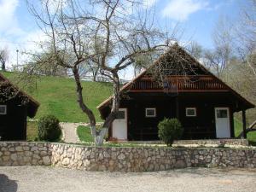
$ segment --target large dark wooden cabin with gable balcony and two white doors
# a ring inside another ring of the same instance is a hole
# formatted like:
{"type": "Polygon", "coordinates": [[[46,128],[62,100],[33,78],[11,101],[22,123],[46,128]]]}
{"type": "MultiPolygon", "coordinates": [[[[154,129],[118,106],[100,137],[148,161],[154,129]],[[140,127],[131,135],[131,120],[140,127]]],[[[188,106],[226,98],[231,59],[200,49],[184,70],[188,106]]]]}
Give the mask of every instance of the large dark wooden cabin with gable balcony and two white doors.
{"type": "MultiPolygon", "coordinates": [[[[233,114],[242,111],[245,129],[246,110],[254,108],[177,44],[121,93],[119,114],[108,134],[119,140],[159,140],[157,125],[165,117],[180,120],[183,139],[232,138],[233,114]]],[[[112,97],[97,107],[102,119],[111,103],[112,97]]]]}

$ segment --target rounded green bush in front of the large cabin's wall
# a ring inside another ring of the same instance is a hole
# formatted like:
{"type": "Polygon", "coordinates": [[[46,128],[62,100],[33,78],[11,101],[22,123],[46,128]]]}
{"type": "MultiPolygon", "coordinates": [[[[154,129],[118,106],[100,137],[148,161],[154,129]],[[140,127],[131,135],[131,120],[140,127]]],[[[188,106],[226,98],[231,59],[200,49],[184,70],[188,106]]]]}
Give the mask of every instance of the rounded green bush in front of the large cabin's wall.
{"type": "Polygon", "coordinates": [[[178,119],[163,119],[158,124],[158,137],[167,144],[172,146],[175,139],[183,135],[183,127],[178,119]]]}

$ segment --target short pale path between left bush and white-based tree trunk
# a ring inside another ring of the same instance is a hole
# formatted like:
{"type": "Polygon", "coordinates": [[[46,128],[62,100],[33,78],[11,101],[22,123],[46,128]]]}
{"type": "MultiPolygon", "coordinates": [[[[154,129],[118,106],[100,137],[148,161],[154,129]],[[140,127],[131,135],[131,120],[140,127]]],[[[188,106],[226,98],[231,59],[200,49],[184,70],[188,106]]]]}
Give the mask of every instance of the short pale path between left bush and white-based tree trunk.
{"type": "Polygon", "coordinates": [[[88,125],[85,123],[61,123],[63,138],[65,143],[79,143],[77,136],[77,127],[79,125],[88,125]]]}

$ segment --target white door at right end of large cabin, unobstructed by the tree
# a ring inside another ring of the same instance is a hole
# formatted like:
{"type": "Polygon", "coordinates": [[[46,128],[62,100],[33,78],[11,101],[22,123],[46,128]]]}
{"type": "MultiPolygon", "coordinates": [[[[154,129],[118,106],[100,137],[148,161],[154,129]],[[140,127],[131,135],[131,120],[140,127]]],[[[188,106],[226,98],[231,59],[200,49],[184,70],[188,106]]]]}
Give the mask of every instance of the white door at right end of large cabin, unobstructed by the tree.
{"type": "Polygon", "coordinates": [[[215,125],[217,138],[230,138],[229,108],[215,108],[215,125]]]}

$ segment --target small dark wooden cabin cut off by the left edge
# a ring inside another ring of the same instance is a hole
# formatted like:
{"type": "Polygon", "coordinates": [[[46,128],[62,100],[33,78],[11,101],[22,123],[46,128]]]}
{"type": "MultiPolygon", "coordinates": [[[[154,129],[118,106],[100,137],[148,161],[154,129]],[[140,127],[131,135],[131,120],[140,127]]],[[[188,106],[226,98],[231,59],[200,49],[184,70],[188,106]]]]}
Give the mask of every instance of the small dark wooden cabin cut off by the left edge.
{"type": "Polygon", "coordinates": [[[26,140],[26,118],[33,118],[39,103],[0,73],[0,141],[26,140]]]}

